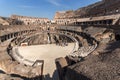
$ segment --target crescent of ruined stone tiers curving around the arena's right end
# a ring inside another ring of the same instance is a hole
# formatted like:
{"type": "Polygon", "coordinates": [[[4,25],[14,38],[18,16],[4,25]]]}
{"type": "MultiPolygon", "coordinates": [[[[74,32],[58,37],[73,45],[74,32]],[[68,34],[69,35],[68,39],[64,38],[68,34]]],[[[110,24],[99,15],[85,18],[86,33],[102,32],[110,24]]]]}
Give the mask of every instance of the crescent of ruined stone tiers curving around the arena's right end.
{"type": "MultiPolygon", "coordinates": [[[[61,30],[61,29],[59,29],[61,30]]],[[[63,29],[62,31],[69,32],[69,34],[72,34],[74,36],[79,44],[79,49],[71,53],[71,56],[76,56],[76,57],[86,57],[88,54],[93,52],[96,47],[97,47],[97,41],[91,37],[89,34],[84,33],[84,32],[78,32],[78,31],[73,31],[73,29],[63,29]]]]}

